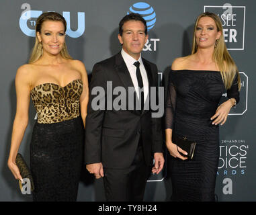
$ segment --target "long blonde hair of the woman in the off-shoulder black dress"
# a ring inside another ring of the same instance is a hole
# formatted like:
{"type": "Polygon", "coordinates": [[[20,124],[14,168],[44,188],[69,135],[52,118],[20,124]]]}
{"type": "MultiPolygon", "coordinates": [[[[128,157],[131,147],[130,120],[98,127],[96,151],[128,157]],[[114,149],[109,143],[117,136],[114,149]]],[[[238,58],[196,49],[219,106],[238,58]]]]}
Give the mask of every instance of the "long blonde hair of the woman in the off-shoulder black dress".
{"type": "Polygon", "coordinates": [[[218,39],[218,41],[216,41],[212,57],[214,59],[214,62],[216,62],[216,64],[218,65],[218,68],[220,69],[220,73],[221,73],[225,88],[230,89],[230,87],[232,87],[234,78],[237,75],[237,84],[240,91],[241,78],[239,75],[239,71],[237,69],[237,65],[234,63],[234,60],[232,59],[228,50],[226,49],[226,44],[224,42],[224,37],[223,37],[222,24],[221,24],[220,18],[215,13],[205,12],[200,14],[197,17],[196,23],[194,26],[194,37],[193,37],[193,46],[192,46],[191,54],[195,54],[198,50],[198,46],[196,44],[196,28],[198,26],[198,22],[201,17],[211,17],[212,19],[214,19],[214,22],[217,26],[217,31],[221,32],[220,38],[218,39]]]}

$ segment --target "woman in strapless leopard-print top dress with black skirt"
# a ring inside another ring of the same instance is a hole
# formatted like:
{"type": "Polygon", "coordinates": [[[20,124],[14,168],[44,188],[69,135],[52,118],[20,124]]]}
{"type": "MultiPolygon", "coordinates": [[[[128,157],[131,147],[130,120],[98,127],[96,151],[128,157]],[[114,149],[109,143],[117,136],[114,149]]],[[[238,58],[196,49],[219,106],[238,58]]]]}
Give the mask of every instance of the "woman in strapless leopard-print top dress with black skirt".
{"type": "Polygon", "coordinates": [[[17,112],[8,166],[22,180],[15,157],[28,125],[30,95],[36,112],[30,144],[34,201],[75,201],[83,164],[83,137],[88,103],[83,62],[67,52],[67,23],[59,13],[42,13],[29,64],[15,77],[17,112]]]}

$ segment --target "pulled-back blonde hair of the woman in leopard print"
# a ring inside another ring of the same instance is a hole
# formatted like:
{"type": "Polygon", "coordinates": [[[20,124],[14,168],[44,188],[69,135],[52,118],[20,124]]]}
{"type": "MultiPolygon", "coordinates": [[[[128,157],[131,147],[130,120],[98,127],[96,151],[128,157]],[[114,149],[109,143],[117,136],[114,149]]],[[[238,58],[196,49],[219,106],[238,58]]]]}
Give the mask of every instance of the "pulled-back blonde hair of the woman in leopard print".
{"type": "MultiPolygon", "coordinates": [[[[39,33],[41,32],[42,24],[47,20],[62,22],[62,24],[64,24],[64,26],[65,26],[65,32],[66,32],[67,22],[66,22],[65,18],[62,17],[62,15],[60,15],[59,13],[56,13],[56,12],[42,13],[38,17],[38,19],[36,19],[36,32],[39,32],[39,33]]],[[[36,60],[38,60],[42,56],[42,53],[43,53],[42,44],[39,42],[38,37],[36,36],[36,41],[34,44],[34,48],[32,49],[32,53],[30,55],[29,63],[36,62],[36,60]]],[[[73,59],[69,55],[66,42],[64,42],[64,44],[63,44],[63,48],[60,51],[60,55],[65,59],[73,59]]]]}

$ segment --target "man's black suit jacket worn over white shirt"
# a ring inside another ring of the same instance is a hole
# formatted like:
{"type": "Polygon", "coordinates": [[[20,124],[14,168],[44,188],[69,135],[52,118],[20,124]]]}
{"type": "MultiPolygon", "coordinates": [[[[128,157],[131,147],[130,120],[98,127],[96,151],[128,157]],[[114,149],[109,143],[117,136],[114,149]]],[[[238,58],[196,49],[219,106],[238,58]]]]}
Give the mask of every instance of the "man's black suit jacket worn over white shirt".
{"type": "MultiPolygon", "coordinates": [[[[148,87],[157,87],[157,66],[142,58],[148,77],[148,87]]],[[[151,118],[153,110],[93,110],[93,87],[107,91],[107,81],[112,88],[122,86],[128,92],[133,87],[130,73],[121,52],[97,62],[92,71],[89,103],[85,125],[85,164],[103,163],[103,167],[122,169],[132,164],[140,135],[146,165],[151,165],[153,153],[163,152],[161,118],[151,118]]],[[[158,93],[157,93],[158,95],[158,93]]],[[[118,95],[113,95],[112,101],[118,95]]],[[[127,96],[128,97],[128,96],[127,96]]],[[[105,94],[105,102],[106,94],[105,94]]],[[[128,103],[127,103],[128,106],[128,103]]]]}

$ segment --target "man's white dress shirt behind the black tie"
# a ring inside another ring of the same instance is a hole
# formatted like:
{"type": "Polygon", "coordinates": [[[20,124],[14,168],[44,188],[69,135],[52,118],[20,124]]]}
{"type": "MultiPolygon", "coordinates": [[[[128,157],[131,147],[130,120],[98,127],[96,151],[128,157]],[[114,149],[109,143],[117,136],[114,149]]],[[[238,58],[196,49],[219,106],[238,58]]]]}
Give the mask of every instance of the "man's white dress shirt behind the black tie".
{"type": "Polygon", "coordinates": [[[126,67],[128,68],[128,71],[130,73],[130,77],[132,78],[132,83],[134,85],[134,89],[138,97],[139,97],[138,80],[136,77],[136,67],[134,65],[134,62],[136,61],[140,62],[140,73],[141,73],[142,82],[143,82],[144,103],[145,103],[146,97],[148,96],[148,77],[146,75],[146,69],[144,68],[144,64],[142,62],[141,54],[138,60],[134,59],[132,56],[130,56],[130,54],[126,53],[124,49],[122,49],[121,54],[122,54],[122,57],[124,58],[124,62],[126,63],[126,67]]]}

